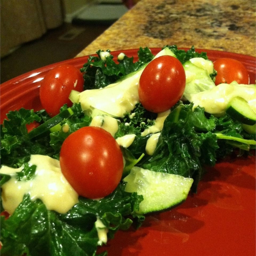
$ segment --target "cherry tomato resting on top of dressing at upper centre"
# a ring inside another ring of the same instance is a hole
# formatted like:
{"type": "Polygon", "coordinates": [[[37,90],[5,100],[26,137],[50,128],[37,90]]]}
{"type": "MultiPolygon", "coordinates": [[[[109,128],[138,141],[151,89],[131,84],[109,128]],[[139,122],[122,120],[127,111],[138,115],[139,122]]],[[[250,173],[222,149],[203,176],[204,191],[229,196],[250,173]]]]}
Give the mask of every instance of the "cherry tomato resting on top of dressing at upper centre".
{"type": "Polygon", "coordinates": [[[185,85],[186,75],[181,62],[169,55],[160,56],[151,61],[140,76],[140,102],[148,111],[166,111],[182,97],[185,85]]]}

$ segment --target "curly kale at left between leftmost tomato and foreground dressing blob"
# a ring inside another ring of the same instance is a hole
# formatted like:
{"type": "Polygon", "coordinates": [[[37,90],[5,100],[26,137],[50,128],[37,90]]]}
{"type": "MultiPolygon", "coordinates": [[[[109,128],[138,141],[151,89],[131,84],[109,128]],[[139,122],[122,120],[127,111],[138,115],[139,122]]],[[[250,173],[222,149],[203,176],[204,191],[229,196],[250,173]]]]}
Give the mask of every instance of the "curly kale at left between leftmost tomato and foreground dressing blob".
{"type": "MultiPolygon", "coordinates": [[[[64,105],[60,111],[67,109],[64,105]]],[[[83,126],[88,126],[91,117],[86,116],[81,105],[73,104],[71,107],[74,114],[64,119],[60,125],[68,125],[68,131],[63,130],[45,134],[37,140],[29,140],[27,124],[31,122],[46,122],[50,117],[43,111],[35,112],[21,108],[18,111],[10,111],[0,127],[1,139],[1,164],[18,168],[28,162],[32,154],[48,155],[59,158],[61,145],[67,136],[83,126]]]]}

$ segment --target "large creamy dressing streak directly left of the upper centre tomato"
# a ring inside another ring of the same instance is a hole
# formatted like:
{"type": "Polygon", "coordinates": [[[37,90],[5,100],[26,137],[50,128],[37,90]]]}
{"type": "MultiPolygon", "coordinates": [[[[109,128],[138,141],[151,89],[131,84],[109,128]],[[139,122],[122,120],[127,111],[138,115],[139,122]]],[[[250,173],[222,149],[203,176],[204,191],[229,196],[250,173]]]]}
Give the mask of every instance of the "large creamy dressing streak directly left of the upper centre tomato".
{"type": "Polygon", "coordinates": [[[79,93],[82,110],[86,111],[93,107],[117,117],[123,117],[126,112],[131,112],[139,102],[138,84],[142,72],[143,69],[102,89],[84,90],[79,93]]]}

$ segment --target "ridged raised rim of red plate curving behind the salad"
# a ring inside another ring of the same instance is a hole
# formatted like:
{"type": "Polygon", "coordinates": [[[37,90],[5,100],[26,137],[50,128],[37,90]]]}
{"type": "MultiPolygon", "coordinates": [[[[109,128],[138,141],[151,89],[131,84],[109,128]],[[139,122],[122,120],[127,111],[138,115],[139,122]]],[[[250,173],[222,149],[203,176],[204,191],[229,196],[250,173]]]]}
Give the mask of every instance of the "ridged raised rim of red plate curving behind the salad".
{"type": "MultiPolygon", "coordinates": [[[[162,49],[160,47],[148,48],[151,50],[153,54],[157,54],[157,52],[159,52],[162,49]]],[[[134,56],[134,58],[138,58],[137,52],[139,49],[115,50],[111,51],[111,54],[113,55],[114,61],[117,61],[117,56],[121,52],[125,53],[128,57],[134,56]]],[[[188,50],[191,48],[178,47],[178,49],[188,50]]],[[[235,58],[241,61],[247,68],[250,76],[250,81],[256,80],[256,58],[254,58],[253,56],[234,52],[225,52],[201,48],[195,48],[195,51],[206,52],[208,58],[212,61],[215,61],[217,58],[235,58]]],[[[31,103],[30,101],[40,101],[39,87],[41,86],[41,80],[44,79],[44,76],[49,70],[61,64],[71,64],[77,68],[81,68],[87,62],[89,56],[97,56],[97,54],[95,52],[91,55],[84,55],[81,57],[55,62],[47,66],[31,70],[0,84],[0,123],[2,123],[3,120],[6,118],[6,113],[8,113],[9,111],[17,110],[21,108],[20,106],[29,109],[35,108],[33,103],[31,103]],[[35,90],[36,92],[34,92],[35,90]],[[31,93],[29,93],[29,91],[31,93]],[[32,97],[33,93],[37,94],[37,99],[32,97]],[[16,102],[14,102],[14,98],[16,102]],[[20,105],[19,102],[23,102],[23,104],[20,105]]]]}

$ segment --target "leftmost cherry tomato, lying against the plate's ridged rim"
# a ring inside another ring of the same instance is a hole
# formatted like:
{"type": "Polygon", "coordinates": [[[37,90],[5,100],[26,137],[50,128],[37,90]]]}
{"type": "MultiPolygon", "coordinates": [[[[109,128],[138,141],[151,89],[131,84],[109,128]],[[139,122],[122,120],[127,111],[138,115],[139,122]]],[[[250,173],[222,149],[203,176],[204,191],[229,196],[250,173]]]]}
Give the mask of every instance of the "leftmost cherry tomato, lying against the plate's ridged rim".
{"type": "Polygon", "coordinates": [[[68,98],[71,90],[81,92],[84,86],[83,75],[76,67],[63,64],[50,70],[40,86],[40,100],[49,116],[55,116],[60,108],[72,105],[68,98]]]}

